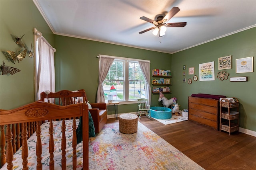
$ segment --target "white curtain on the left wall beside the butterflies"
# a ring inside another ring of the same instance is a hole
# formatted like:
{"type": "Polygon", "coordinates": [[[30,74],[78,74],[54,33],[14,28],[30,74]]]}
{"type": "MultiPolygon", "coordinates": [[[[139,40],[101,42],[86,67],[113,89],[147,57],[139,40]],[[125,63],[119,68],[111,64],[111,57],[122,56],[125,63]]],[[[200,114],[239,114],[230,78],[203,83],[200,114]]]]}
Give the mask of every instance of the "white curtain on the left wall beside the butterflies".
{"type": "MultiPolygon", "coordinates": [[[[41,34],[42,35],[42,34],[41,34]]],[[[35,97],[40,100],[40,93],[45,90],[55,92],[54,52],[56,50],[44,39],[37,38],[35,45],[35,97]]]]}

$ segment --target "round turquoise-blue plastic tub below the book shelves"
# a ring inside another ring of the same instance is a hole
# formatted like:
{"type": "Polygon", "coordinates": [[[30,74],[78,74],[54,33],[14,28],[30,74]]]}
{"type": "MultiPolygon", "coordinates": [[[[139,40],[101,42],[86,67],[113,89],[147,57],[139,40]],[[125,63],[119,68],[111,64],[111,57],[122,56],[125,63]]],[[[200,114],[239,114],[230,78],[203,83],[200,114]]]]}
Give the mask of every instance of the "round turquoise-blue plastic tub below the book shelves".
{"type": "Polygon", "coordinates": [[[168,107],[154,106],[150,107],[151,117],[156,119],[170,119],[172,118],[172,109],[168,107]]]}

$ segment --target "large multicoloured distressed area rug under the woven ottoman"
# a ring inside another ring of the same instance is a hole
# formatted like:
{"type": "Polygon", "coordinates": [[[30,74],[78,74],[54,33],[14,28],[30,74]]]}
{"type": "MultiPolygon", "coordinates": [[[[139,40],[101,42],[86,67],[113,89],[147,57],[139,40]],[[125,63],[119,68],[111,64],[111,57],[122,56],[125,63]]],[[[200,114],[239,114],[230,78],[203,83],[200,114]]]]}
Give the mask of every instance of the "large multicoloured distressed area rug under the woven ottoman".
{"type": "Polygon", "coordinates": [[[203,170],[140,122],[134,134],[118,129],[118,122],[107,123],[90,138],[90,170],[203,170]]]}

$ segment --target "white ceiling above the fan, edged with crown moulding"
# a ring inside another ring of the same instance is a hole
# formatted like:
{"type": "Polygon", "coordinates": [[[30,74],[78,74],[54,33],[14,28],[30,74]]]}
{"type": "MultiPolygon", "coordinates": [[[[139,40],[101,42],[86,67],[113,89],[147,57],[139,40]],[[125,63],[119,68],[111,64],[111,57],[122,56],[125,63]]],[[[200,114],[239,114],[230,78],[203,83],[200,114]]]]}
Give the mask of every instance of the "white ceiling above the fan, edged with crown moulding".
{"type": "MultiPolygon", "coordinates": [[[[256,26],[256,0],[33,0],[54,34],[176,53],[256,26]],[[152,20],[178,12],[164,37],[148,31],[152,20]]],[[[40,30],[39,30],[40,31],[40,30]]]]}

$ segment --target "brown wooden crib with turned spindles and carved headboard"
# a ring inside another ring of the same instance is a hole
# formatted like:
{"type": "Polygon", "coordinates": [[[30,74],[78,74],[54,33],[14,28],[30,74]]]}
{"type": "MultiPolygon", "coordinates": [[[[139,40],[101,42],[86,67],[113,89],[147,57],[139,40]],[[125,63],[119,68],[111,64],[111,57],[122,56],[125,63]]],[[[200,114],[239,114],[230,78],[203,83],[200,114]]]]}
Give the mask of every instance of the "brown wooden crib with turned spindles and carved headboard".
{"type": "Polygon", "coordinates": [[[44,93],[41,94],[41,96],[44,95],[47,96],[48,102],[50,102],[50,98],[53,97],[52,101],[54,104],[42,102],[42,99],[41,101],[33,102],[16,109],[0,110],[1,167],[5,164],[3,167],[4,169],[12,170],[13,168],[16,168],[17,165],[14,164],[14,162],[18,161],[16,160],[16,157],[14,160],[14,153],[17,154],[20,152],[20,156],[17,157],[21,157],[22,167],[24,170],[28,170],[29,167],[31,168],[31,162],[28,158],[33,156],[36,157],[36,163],[33,164],[35,164],[37,169],[76,169],[77,167],[80,167],[83,168],[83,170],[88,170],[88,105],[86,103],[79,102],[78,104],[70,104],[71,102],[69,101],[72,99],[75,101],[77,98],[79,100],[80,98],[84,97],[83,94],[81,92],[62,90],[60,92],[50,93],[48,95],[44,93]],[[65,106],[66,99],[68,99],[69,102],[68,106],[65,106]],[[56,101],[58,101],[58,103],[56,103],[56,101]],[[78,125],[77,121],[79,121],[77,118],[79,117],[83,117],[83,141],[78,144],[82,148],[78,152],[76,150],[76,128],[78,125]],[[41,141],[41,139],[44,139],[42,136],[45,134],[42,134],[41,132],[45,131],[46,129],[46,125],[43,124],[44,121],[48,121],[47,125],[49,125],[49,129],[46,134],[46,138],[49,138],[46,146],[48,149],[47,154],[49,155],[47,164],[42,163],[42,159],[45,157],[42,156],[42,153],[46,152],[46,150],[42,150],[41,141]],[[56,128],[54,123],[60,124],[58,131],[55,131],[56,128]],[[67,129],[67,127],[70,127],[71,129],[67,129]],[[68,143],[66,143],[67,131],[71,133],[68,134],[68,137],[70,137],[70,141],[68,141],[68,143]],[[55,139],[55,137],[57,137],[56,134],[59,134],[58,139],[55,139]],[[31,155],[31,147],[28,146],[27,142],[30,136],[34,137],[33,141],[36,143],[36,152],[34,155],[31,155]],[[57,156],[61,157],[58,158],[58,160],[61,159],[61,163],[59,162],[58,164],[56,164],[56,159],[54,159],[56,157],[56,148],[54,148],[56,141],[61,143],[61,149],[59,149],[57,152],[57,156]],[[66,146],[70,146],[71,148],[66,146]],[[69,150],[71,153],[66,152],[67,150],[69,150]],[[78,154],[80,154],[81,159],[79,161],[77,160],[78,154]],[[66,161],[68,159],[67,156],[69,156],[69,158],[71,157],[70,159],[72,160],[70,162],[66,161]]]}

